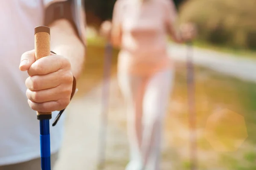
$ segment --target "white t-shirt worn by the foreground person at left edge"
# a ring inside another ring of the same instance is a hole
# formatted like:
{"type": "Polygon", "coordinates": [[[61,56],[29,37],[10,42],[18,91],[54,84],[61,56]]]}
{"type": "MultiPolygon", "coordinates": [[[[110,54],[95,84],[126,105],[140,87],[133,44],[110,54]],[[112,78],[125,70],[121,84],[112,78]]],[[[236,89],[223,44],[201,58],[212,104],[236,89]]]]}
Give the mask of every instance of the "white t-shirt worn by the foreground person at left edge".
{"type": "MultiPolygon", "coordinates": [[[[51,1],[0,0],[0,166],[40,157],[39,120],[27,103],[28,74],[19,64],[34,49],[34,28],[44,25],[44,7],[51,1]]],[[[50,123],[57,114],[52,112],[50,123]]],[[[50,128],[52,153],[61,145],[64,115],[50,128]]]]}

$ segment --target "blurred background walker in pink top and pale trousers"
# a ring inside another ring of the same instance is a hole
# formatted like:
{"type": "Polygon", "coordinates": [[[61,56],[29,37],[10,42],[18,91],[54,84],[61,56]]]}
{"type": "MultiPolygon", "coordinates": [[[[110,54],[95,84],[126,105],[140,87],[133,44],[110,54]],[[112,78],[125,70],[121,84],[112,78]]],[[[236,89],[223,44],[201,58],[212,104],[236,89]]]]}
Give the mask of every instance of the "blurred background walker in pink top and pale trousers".
{"type": "Polygon", "coordinates": [[[186,42],[195,26],[177,26],[172,0],[117,0],[101,34],[120,47],[118,81],[127,104],[130,162],[126,170],[160,170],[163,120],[174,84],[168,39],[186,42]]]}

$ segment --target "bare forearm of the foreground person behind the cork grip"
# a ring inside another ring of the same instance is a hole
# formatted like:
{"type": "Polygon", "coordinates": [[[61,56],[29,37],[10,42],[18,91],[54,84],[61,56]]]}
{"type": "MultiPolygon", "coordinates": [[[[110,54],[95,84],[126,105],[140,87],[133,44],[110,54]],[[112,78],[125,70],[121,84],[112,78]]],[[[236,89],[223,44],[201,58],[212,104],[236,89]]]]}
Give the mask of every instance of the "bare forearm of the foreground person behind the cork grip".
{"type": "Polygon", "coordinates": [[[51,50],[70,60],[73,76],[80,77],[85,58],[84,44],[67,20],[58,20],[50,26],[51,50]]]}

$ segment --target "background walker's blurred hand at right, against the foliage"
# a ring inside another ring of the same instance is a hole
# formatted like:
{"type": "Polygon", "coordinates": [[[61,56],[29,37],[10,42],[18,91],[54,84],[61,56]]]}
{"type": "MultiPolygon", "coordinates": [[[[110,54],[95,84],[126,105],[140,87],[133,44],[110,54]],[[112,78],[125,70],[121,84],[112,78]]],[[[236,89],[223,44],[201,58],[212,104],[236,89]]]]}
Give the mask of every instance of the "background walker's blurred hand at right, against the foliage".
{"type": "Polygon", "coordinates": [[[193,23],[186,23],[182,24],[180,26],[180,32],[183,40],[185,41],[191,41],[193,40],[197,35],[197,29],[195,24],[193,23]]]}

